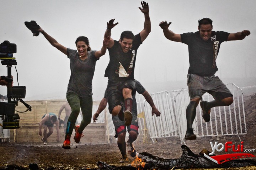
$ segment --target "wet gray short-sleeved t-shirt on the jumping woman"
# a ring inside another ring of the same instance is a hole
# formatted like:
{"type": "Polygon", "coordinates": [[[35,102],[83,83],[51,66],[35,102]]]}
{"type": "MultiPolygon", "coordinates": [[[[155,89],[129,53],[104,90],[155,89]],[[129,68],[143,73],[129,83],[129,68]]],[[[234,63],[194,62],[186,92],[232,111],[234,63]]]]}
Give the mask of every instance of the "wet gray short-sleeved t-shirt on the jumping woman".
{"type": "Polygon", "coordinates": [[[92,78],[98,60],[95,52],[88,51],[87,59],[81,60],[76,50],[67,49],[71,71],[67,93],[76,93],[80,97],[92,95],[92,78]]]}

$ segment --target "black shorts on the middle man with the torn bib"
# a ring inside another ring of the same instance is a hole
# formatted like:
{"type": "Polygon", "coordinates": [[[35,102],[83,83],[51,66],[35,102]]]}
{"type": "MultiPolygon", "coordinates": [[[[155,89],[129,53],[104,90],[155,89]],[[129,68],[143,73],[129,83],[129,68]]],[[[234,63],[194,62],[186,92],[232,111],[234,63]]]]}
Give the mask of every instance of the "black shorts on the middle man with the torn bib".
{"type": "Polygon", "coordinates": [[[112,83],[108,81],[107,86],[107,99],[108,99],[108,110],[110,113],[112,113],[112,110],[117,105],[124,105],[124,98],[122,89],[123,88],[129,88],[132,89],[132,95],[136,92],[135,89],[135,80],[129,79],[126,81],[118,82],[118,83],[112,83]]]}

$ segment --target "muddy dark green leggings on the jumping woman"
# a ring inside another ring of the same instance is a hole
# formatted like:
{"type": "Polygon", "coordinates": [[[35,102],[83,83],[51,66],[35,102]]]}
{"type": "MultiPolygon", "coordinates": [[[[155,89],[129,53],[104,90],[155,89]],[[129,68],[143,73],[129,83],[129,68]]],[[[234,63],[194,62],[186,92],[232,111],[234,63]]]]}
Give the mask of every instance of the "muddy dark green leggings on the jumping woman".
{"type": "Polygon", "coordinates": [[[69,116],[68,123],[66,126],[65,139],[67,136],[71,137],[72,135],[73,129],[75,127],[76,119],[80,112],[80,108],[82,111],[83,119],[79,127],[79,133],[82,133],[85,127],[90,124],[91,117],[92,117],[92,96],[79,97],[75,93],[67,93],[66,98],[71,107],[71,114],[69,116]]]}

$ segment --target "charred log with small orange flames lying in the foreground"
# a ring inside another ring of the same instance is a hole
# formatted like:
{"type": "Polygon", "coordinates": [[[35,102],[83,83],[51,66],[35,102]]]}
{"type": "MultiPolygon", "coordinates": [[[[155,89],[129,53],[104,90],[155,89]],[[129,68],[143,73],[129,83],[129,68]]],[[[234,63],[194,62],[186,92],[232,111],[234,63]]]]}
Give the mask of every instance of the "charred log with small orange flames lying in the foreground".
{"type": "Polygon", "coordinates": [[[137,155],[137,159],[131,165],[116,167],[98,161],[97,166],[100,170],[146,170],[146,169],[189,169],[189,168],[237,168],[243,166],[256,166],[255,159],[239,159],[230,160],[223,164],[216,164],[212,160],[205,157],[204,153],[209,153],[206,149],[197,155],[185,145],[181,146],[182,155],[178,159],[163,159],[143,152],[137,155]],[[140,163],[138,163],[140,162],[140,163]]]}

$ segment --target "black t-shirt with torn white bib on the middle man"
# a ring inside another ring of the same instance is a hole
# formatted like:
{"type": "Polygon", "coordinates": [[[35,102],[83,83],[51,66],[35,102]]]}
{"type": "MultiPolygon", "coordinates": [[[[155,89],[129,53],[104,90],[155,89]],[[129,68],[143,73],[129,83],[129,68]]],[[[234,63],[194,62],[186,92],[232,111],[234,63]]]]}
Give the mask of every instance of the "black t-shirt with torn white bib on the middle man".
{"type": "Polygon", "coordinates": [[[108,48],[110,61],[105,71],[105,77],[108,77],[110,82],[116,83],[134,79],[135,60],[140,44],[142,44],[141,37],[140,34],[137,34],[134,36],[132,48],[127,53],[124,53],[120,43],[114,40],[114,45],[108,48]],[[129,74],[128,77],[119,77],[119,62],[129,74]]]}

